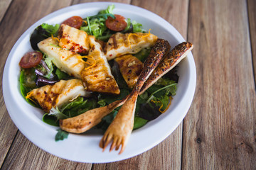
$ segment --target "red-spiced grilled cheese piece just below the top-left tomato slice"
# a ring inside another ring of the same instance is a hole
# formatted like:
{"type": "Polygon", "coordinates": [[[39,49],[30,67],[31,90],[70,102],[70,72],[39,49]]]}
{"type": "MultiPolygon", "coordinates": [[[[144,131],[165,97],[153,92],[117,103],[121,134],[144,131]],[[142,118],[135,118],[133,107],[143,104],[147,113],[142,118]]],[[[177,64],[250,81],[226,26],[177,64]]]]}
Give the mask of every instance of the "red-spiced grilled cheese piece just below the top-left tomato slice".
{"type": "Polygon", "coordinates": [[[90,50],[90,43],[88,35],[84,30],[78,30],[77,28],[70,27],[62,24],[60,26],[59,46],[80,54],[88,54],[90,50]]]}

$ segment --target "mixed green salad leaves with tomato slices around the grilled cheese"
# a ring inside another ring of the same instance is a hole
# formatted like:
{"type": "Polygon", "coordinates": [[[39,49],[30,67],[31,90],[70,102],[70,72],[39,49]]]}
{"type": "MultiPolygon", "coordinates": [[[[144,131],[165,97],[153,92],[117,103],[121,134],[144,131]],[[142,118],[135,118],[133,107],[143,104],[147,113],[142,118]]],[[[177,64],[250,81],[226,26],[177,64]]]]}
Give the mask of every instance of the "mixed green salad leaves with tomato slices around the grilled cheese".
{"type": "MultiPolygon", "coordinates": [[[[95,16],[87,16],[87,18],[73,16],[63,21],[61,25],[67,25],[72,28],[82,30],[88,36],[93,36],[95,38],[95,42],[98,42],[101,45],[103,49],[102,51],[104,51],[107,45],[110,44],[109,41],[113,35],[117,35],[117,33],[127,34],[128,42],[130,35],[136,34],[139,38],[146,38],[146,36],[148,36],[146,34],[150,34],[143,29],[142,24],[137,23],[136,21],[131,21],[129,18],[124,18],[124,16],[114,14],[113,10],[114,5],[108,6],[106,10],[99,11],[95,16]],[[144,35],[142,35],[143,33],[144,35]]],[[[78,78],[75,77],[74,74],[70,74],[70,72],[65,72],[63,67],[58,67],[58,64],[56,65],[49,54],[38,48],[38,43],[46,40],[47,38],[60,41],[61,25],[49,25],[47,23],[43,23],[41,26],[38,26],[38,28],[33,31],[30,40],[31,47],[33,47],[33,50],[35,51],[28,52],[21,58],[21,74],[19,79],[21,94],[32,106],[43,109],[45,108],[40,105],[36,98],[31,97],[31,91],[41,89],[45,86],[53,87],[55,84],[62,83],[63,81],[78,78]]],[[[76,46],[60,47],[54,43],[51,43],[50,45],[60,50],[72,51],[73,54],[79,53],[81,56],[80,60],[83,60],[83,62],[88,65],[87,68],[95,66],[94,61],[96,60],[88,55],[90,49],[79,50],[80,48],[76,48],[76,46]],[[78,52],[75,52],[77,49],[78,52]]],[[[129,45],[131,45],[130,42],[129,45]]],[[[151,48],[152,46],[143,47],[136,51],[136,53],[132,53],[132,57],[136,57],[139,62],[143,63],[149,56],[151,48]]],[[[117,57],[117,59],[118,58],[119,57],[117,57]]],[[[134,64],[134,62],[130,63],[134,64]]],[[[131,86],[128,86],[126,81],[127,77],[125,77],[121,72],[124,66],[120,67],[117,60],[108,60],[107,64],[109,64],[111,74],[118,85],[118,94],[90,90],[86,91],[85,94],[74,96],[71,100],[68,100],[68,102],[63,103],[59,107],[56,106],[48,109],[48,111],[43,115],[43,121],[50,125],[59,126],[60,120],[73,118],[87,111],[91,111],[92,109],[108,106],[115,101],[122,100],[126,96],[129,96],[132,92],[132,88],[131,86]]],[[[126,67],[129,67],[129,64],[126,65],[126,67]]],[[[170,72],[166,73],[146,89],[143,94],[140,94],[137,97],[133,130],[141,128],[148,121],[154,120],[161,115],[161,113],[166,111],[171,103],[171,97],[176,94],[177,83],[178,75],[176,74],[176,69],[171,69],[170,72]]],[[[94,128],[105,132],[114,120],[120,108],[121,106],[114,108],[113,111],[111,111],[110,114],[105,115],[100,123],[98,123],[94,128]]],[[[55,140],[63,140],[66,137],[68,137],[68,132],[59,129],[55,136],[55,140]]]]}

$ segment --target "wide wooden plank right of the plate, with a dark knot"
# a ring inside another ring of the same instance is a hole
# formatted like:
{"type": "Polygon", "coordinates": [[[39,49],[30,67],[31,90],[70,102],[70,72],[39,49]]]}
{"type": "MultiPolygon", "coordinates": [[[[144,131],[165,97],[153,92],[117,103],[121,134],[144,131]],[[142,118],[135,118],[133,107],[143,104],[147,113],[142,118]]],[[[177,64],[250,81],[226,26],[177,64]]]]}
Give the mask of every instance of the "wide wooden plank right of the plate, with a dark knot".
{"type": "MultiPolygon", "coordinates": [[[[256,96],[246,1],[190,1],[197,88],[182,169],[255,169],[256,96]]],[[[254,30],[255,31],[255,30],[254,30]]]]}

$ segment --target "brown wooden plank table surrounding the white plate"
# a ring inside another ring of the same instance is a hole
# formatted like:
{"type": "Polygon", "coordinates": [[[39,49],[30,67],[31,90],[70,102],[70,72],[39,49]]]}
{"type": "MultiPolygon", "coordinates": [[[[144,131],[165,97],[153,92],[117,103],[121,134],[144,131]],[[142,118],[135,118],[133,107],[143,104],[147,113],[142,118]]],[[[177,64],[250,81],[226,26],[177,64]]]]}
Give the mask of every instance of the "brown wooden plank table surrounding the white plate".
{"type": "MultiPolygon", "coordinates": [[[[27,28],[48,13],[84,2],[1,0],[1,79],[11,48],[27,28]]],[[[118,2],[158,14],[193,42],[196,94],[183,123],[137,157],[110,164],[70,162],[44,152],[21,134],[1,91],[1,169],[255,169],[256,1],[118,2]]]]}

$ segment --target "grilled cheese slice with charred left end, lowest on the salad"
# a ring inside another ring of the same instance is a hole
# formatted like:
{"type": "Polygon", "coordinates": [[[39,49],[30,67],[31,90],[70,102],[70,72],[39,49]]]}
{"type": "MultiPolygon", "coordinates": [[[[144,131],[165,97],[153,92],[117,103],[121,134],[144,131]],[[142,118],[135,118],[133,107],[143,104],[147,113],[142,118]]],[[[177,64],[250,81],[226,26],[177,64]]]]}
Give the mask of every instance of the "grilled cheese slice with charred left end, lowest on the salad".
{"type": "Polygon", "coordinates": [[[49,113],[51,108],[60,107],[78,96],[86,96],[87,93],[80,79],[70,79],[33,89],[26,98],[36,101],[43,111],[49,113]]]}

